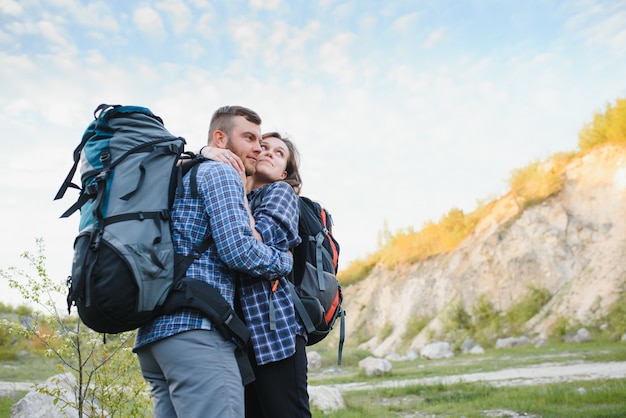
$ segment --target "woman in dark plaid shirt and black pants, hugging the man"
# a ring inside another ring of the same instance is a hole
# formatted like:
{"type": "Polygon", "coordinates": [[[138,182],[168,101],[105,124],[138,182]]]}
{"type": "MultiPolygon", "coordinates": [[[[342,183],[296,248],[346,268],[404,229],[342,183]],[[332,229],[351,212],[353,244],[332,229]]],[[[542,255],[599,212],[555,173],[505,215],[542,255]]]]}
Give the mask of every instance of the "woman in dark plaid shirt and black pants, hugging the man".
{"type": "MultiPolygon", "coordinates": [[[[256,173],[246,179],[251,224],[265,244],[287,251],[300,243],[298,197],[302,182],[294,144],[276,132],[263,135],[256,173]]],[[[203,155],[240,162],[219,149],[203,155]]],[[[247,418],[310,417],[306,332],[298,319],[287,279],[260,281],[242,276],[238,284],[243,318],[252,331],[251,362],[256,381],[246,386],[247,418]]]]}

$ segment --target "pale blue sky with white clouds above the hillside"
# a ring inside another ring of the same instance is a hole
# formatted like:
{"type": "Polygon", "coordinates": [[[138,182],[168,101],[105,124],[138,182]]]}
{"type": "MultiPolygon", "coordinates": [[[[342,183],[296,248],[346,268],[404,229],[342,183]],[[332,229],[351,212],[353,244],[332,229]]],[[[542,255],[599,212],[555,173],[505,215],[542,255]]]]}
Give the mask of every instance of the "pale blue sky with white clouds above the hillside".
{"type": "MultiPolygon", "coordinates": [[[[345,268],[575,151],[625,74],[624,0],[0,0],[0,268],[42,238],[70,274],[77,193],[53,197],[100,103],[190,150],[219,106],[256,110],[298,146],[345,268]]],[[[22,301],[3,281],[0,302],[22,301]]]]}

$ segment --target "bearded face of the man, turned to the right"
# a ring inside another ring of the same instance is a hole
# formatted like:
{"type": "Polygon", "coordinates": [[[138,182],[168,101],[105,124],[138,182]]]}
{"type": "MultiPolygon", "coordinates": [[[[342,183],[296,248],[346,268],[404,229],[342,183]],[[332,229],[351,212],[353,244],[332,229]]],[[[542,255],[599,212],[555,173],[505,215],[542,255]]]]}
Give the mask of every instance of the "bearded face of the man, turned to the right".
{"type": "Polygon", "coordinates": [[[261,154],[261,127],[243,116],[236,116],[226,148],[241,158],[246,176],[256,172],[256,163],[261,154]]]}

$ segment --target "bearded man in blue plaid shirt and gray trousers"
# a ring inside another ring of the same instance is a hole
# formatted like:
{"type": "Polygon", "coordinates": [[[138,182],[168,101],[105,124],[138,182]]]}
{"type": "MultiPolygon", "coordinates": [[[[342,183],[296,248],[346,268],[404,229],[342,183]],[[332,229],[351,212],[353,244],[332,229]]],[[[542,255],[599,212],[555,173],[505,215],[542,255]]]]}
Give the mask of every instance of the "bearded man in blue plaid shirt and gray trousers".
{"type": "MultiPolygon", "coordinates": [[[[219,108],[211,118],[209,145],[229,149],[253,174],[261,153],[261,118],[240,106],[219,108]]],[[[200,164],[197,197],[190,177],[172,209],[176,251],[188,254],[206,233],[213,243],[187,270],[233,305],[236,272],[271,280],[289,273],[291,255],[257,241],[250,227],[240,175],[220,162],[200,164]]],[[[234,344],[193,311],[163,315],[141,327],[135,351],[152,385],[156,418],[243,417],[244,395],[234,344]]]]}

